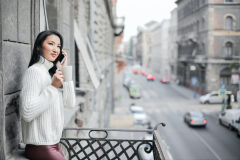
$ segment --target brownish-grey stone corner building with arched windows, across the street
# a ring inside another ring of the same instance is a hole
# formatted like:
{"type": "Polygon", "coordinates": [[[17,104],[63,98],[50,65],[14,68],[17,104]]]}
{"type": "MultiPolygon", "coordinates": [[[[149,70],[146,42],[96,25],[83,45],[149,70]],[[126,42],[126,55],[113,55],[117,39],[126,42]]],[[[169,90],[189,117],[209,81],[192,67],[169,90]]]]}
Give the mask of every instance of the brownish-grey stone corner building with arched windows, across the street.
{"type": "Polygon", "coordinates": [[[199,93],[226,89],[231,84],[231,64],[240,51],[240,0],[178,0],[178,78],[187,87],[198,78],[199,93]]]}

